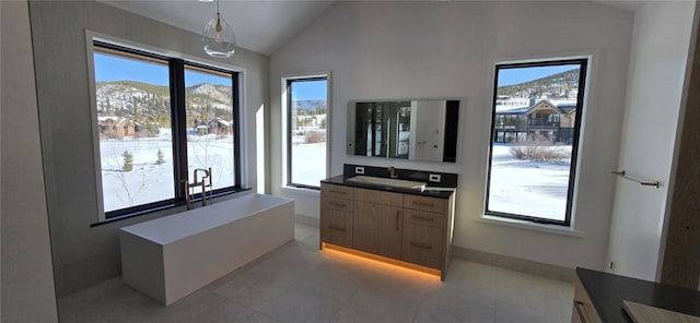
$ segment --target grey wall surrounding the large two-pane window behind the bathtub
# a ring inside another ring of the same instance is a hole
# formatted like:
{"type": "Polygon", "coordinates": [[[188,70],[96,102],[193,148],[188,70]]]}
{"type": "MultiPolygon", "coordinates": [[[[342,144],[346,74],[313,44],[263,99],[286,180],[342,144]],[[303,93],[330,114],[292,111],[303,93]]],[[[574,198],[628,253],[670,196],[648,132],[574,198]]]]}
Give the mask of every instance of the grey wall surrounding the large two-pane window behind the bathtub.
{"type": "MultiPolygon", "coordinates": [[[[256,111],[267,105],[268,57],[237,48],[232,59],[215,60],[201,49],[201,36],[95,1],[32,1],[32,38],[37,71],[42,149],[59,296],[120,274],[118,229],[180,210],[97,223],[96,171],[85,31],[244,69],[245,182],[257,187],[256,111]]],[[[16,121],[15,121],[16,122],[16,121]]],[[[23,122],[24,123],[24,122],[23,122]]],[[[21,204],[32,203],[26,199],[21,204]]]]}

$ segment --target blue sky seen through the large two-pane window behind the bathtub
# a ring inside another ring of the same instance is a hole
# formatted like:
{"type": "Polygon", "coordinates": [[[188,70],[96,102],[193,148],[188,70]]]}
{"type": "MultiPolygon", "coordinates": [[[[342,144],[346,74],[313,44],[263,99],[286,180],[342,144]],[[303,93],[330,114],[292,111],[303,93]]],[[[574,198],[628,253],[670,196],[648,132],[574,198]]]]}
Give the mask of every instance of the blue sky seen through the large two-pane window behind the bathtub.
{"type": "MultiPolygon", "coordinates": [[[[154,85],[168,85],[167,64],[126,59],[100,52],[95,52],[94,61],[95,80],[97,82],[139,81],[154,85]]],[[[185,71],[185,86],[200,83],[231,86],[231,79],[196,71],[185,71]]]]}

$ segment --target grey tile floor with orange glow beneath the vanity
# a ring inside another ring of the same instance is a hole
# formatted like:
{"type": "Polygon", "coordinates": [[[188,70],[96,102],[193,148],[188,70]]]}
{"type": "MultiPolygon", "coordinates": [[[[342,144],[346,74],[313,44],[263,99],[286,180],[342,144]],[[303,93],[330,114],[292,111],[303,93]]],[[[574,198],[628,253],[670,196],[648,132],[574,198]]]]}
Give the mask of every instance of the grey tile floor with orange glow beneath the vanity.
{"type": "Polygon", "coordinates": [[[60,322],[571,322],[573,285],[455,259],[440,282],[318,251],[318,228],[163,307],[120,277],[59,299],[60,322]]]}

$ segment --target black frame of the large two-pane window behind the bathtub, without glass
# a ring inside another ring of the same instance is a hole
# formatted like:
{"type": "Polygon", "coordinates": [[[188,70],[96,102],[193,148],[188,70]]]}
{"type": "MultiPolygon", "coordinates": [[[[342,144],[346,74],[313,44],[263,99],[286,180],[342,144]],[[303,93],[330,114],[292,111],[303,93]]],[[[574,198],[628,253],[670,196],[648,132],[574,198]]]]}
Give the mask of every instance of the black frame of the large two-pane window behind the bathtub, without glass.
{"type": "MultiPolygon", "coordinates": [[[[178,207],[186,205],[186,191],[183,186],[183,181],[188,179],[188,163],[187,163],[187,127],[186,127],[186,107],[185,107],[185,67],[194,67],[196,69],[209,70],[215,73],[225,73],[231,75],[232,81],[232,113],[234,116],[234,124],[232,132],[233,137],[233,163],[234,163],[234,182],[233,186],[213,190],[213,196],[228,195],[235,192],[244,191],[242,186],[242,163],[243,153],[241,151],[241,136],[242,125],[241,120],[241,80],[242,73],[235,70],[229,70],[221,67],[214,67],[196,59],[184,59],[179,57],[166,56],[156,53],[151,50],[144,50],[138,48],[138,46],[120,45],[112,43],[102,37],[89,37],[89,69],[91,70],[91,107],[93,113],[93,141],[95,141],[95,176],[97,178],[97,193],[98,193],[98,212],[100,222],[91,226],[110,223],[114,220],[129,218],[138,215],[150,214],[156,211],[178,207]],[[117,56],[124,56],[126,58],[136,58],[139,60],[158,59],[159,61],[167,62],[168,67],[168,84],[170,84],[170,117],[171,117],[171,140],[173,145],[173,199],[166,199],[162,201],[155,201],[151,203],[143,203],[139,205],[128,206],[124,208],[113,210],[105,212],[104,210],[104,183],[102,182],[102,162],[100,152],[100,136],[96,122],[96,79],[94,75],[94,53],[107,52],[117,56]]],[[[201,200],[201,193],[194,195],[194,201],[201,200]]]]}

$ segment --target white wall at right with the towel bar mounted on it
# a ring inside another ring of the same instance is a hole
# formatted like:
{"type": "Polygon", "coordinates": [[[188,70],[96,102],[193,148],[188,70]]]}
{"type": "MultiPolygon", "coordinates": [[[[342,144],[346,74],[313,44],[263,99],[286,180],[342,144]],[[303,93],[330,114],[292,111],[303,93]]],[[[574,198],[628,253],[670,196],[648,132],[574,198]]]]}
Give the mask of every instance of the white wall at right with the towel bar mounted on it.
{"type": "Polygon", "coordinates": [[[634,15],[618,168],[662,186],[617,180],[608,262],[621,275],[656,278],[693,12],[650,2],[634,15]]]}

